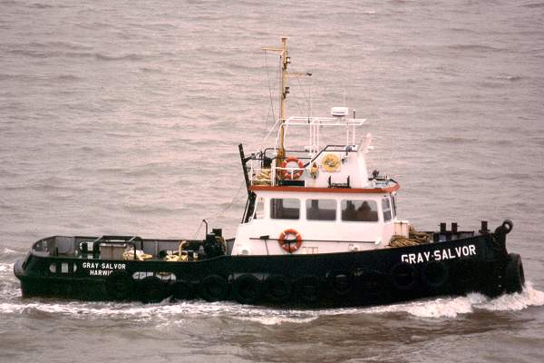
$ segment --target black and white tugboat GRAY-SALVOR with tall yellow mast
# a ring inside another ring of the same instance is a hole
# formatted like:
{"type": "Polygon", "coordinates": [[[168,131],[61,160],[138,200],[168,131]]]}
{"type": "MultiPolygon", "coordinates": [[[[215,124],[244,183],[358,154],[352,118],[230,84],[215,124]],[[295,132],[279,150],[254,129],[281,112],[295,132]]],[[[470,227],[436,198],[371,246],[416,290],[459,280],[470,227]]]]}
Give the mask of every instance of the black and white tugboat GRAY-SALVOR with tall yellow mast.
{"type": "Polygon", "coordinates": [[[274,146],[246,156],[238,145],[248,201],[238,231],[203,240],[139,236],[53,236],[15,263],[24,298],[235,300],[242,304],[333,308],[478,291],[520,292],[520,255],[506,250],[512,222],[495,231],[417,232],[396,212],[400,188],[368,173],[364,119],[333,107],[328,117],[286,117],[287,38],[274,146]],[[330,140],[335,139],[335,140],[330,140]]]}

